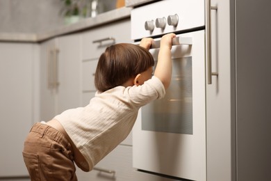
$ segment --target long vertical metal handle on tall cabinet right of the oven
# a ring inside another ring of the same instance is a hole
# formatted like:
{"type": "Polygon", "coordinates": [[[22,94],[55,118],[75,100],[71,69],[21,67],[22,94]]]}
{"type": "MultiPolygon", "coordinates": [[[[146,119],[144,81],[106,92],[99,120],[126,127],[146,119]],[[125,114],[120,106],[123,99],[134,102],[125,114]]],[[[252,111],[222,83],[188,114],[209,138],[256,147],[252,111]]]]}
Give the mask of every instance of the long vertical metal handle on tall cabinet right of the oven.
{"type": "Polygon", "coordinates": [[[211,35],[211,10],[217,10],[216,6],[211,6],[211,0],[206,0],[206,39],[207,39],[207,79],[208,84],[212,84],[212,76],[218,76],[217,72],[212,72],[212,35],[211,35]]]}

